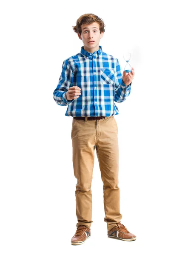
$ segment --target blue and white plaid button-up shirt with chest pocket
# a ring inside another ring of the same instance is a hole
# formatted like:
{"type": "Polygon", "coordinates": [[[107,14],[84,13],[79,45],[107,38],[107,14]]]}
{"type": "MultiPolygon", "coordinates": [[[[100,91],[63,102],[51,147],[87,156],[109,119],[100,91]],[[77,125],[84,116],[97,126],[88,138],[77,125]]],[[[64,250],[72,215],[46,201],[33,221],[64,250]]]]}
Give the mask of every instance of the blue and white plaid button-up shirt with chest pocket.
{"type": "Polygon", "coordinates": [[[62,73],[54,90],[58,105],[68,106],[65,116],[113,116],[119,114],[114,102],[123,102],[131,92],[126,86],[117,58],[99,50],[81,52],[63,62],[62,73]],[[81,88],[77,99],[67,100],[69,87],[81,88]]]}

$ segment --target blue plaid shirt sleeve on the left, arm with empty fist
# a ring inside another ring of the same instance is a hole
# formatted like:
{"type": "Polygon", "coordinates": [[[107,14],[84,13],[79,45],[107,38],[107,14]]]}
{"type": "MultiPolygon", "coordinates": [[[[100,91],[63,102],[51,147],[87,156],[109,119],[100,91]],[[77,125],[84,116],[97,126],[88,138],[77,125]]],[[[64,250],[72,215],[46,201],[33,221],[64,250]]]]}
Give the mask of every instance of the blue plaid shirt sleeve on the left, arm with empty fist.
{"type": "Polygon", "coordinates": [[[74,99],[66,99],[66,93],[68,91],[68,88],[73,86],[73,79],[74,73],[71,70],[68,60],[65,60],[63,62],[62,73],[60,75],[57,88],[53,92],[53,98],[58,105],[67,106],[74,101],[74,99]]]}

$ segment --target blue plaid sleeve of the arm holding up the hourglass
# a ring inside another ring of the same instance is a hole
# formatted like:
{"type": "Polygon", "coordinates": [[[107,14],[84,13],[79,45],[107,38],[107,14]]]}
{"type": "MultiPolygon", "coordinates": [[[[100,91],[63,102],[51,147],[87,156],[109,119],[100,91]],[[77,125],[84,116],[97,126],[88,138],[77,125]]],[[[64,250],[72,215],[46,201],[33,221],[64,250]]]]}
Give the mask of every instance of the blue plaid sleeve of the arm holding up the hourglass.
{"type": "MultiPolygon", "coordinates": [[[[132,83],[131,83],[132,84],[132,83]]],[[[114,101],[115,102],[123,102],[131,92],[131,84],[126,86],[124,82],[122,81],[122,73],[119,61],[117,59],[116,64],[116,83],[115,83],[115,95],[114,95],[114,101]]]]}

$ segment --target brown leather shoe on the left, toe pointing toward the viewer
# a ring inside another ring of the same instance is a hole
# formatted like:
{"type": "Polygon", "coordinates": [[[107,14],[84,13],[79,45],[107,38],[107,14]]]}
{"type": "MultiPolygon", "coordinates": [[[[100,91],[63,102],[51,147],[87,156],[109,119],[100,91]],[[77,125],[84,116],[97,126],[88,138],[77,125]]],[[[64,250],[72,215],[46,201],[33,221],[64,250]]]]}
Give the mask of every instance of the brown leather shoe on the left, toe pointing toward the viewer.
{"type": "Polygon", "coordinates": [[[79,245],[83,244],[86,239],[91,236],[91,229],[85,227],[84,225],[80,225],[77,227],[77,231],[74,236],[71,238],[71,244],[79,245]]]}

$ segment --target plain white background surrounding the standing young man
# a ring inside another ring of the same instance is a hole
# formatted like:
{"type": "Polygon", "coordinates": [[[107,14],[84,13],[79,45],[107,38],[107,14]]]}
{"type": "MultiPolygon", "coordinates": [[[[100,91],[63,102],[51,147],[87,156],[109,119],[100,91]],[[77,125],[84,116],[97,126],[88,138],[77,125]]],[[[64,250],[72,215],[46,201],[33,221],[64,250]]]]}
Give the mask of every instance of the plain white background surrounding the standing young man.
{"type": "Polygon", "coordinates": [[[0,251],[6,255],[184,255],[185,50],[182,1],[2,1],[0,251]],[[71,123],[53,99],[63,61],[80,52],[85,13],[105,22],[100,45],[130,51],[131,94],[117,104],[122,224],[107,237],[95,153],[91,238],[76,231],[71,123]],[[65,253],[64,253],[65,252],[65,253]]]}

